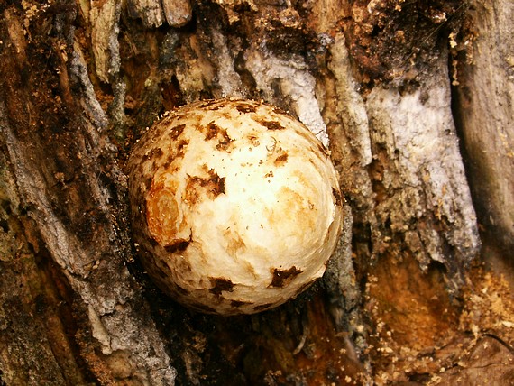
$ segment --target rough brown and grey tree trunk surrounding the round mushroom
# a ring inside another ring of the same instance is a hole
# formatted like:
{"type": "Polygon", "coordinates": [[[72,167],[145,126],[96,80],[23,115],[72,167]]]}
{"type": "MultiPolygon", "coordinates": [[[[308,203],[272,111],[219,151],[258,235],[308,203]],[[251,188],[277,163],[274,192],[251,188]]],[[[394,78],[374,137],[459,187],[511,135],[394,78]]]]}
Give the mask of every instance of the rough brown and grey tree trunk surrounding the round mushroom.
{"type": "Polygon", "coordinates": [[[454,124],[477,160],[467,171],[484,237],[511,251],[514,178],[498,165],[512,160],[512,109],[479,95],[482,82],[511,86],[511,36],[480,51],[510,33],[504,3],[0,5],[0,384],[449,382],[473,370],[464,348],[483,339],[507,354],[474,353],[507,380],[514,306],[496,276],[471,269],[481,240],[454,124]],[[454,98],[450,55],[465,87],[454,98]],[[331,150],[346,198],[324,278],[259,315],[182,308],[131,241],[133,143],[166,110],[211,97],[296,115],[331,150]],[[477,153],[488,141],[507,150],[477,153]]]}

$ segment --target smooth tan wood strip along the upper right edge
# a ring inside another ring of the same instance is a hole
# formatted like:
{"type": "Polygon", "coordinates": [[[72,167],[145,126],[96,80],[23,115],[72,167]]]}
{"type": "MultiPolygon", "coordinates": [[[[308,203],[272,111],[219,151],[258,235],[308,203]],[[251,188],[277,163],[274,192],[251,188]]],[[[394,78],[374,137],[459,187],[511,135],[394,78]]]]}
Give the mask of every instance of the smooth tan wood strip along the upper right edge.
{"type": "MultiPolygon", "coordinates": [[[[473,201],[489,244],[514,250],[514,18],[512,2],[471,2],[473,56],[454,58],[455,113],[473,201]],[[465,65],[468,63],[468,65],[465,65]]],[[[458,47],[457,47],[458,49],[458,47]]]]}

